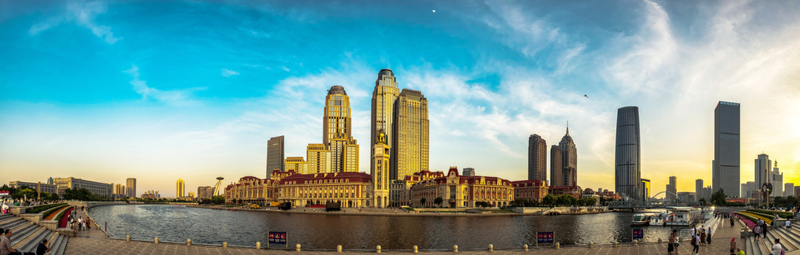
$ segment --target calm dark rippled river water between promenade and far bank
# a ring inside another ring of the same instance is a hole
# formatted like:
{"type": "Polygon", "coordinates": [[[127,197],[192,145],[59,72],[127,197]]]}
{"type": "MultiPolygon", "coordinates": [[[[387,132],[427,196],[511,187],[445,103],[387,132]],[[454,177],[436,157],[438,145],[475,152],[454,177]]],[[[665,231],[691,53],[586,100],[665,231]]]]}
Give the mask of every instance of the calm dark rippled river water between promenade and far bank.
{"type": "MultiPolygon", "coordinates": [[[[562,245],[630,242],[634,213],[508,217],[383,217],[258,213],[190,208],[182,205],[111,205],[90,209],[111,237],[134,240],[254,246],[266,245],[268,231],[287,232],[290,246],[303,248],[483,249],[536,243],[536,232],[555,231],[562,245]]],[[[643,226],[646,241],[666,240],[669,227],[643,226]]]]}

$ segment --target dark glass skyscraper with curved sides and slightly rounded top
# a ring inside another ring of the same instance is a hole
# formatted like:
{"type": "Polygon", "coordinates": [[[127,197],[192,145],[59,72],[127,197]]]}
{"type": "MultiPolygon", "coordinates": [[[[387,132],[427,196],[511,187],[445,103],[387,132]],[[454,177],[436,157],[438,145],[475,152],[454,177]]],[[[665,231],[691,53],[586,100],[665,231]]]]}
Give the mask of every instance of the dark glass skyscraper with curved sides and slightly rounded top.
{"type": "Polygon", "coordinates": [[[626,106],[617,110],[617,142],[614,158],[614,189],[642,201],[642,146],[639,138],[639,108],[626,106]]]}

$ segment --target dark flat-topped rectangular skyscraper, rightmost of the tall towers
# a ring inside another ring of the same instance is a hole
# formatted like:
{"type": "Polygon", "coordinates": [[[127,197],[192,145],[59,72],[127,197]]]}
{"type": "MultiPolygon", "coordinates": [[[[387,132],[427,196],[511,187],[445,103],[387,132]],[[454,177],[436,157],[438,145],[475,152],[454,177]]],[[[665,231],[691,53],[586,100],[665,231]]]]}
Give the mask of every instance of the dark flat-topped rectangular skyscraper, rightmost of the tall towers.
{"type": "Polygon", "coordinates": [[[739,194],[739,104],[720,101],[714,109],[714,192],[724,190],[727,197],[739,194]]]}

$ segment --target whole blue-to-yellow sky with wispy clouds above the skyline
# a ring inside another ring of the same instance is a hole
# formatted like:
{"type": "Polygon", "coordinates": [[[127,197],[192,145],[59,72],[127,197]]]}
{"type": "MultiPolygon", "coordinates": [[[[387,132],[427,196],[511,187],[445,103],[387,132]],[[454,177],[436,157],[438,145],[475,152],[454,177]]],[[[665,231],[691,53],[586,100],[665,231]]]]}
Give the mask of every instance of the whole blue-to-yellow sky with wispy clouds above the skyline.
{"type": "MultiPolygon", "coordinates": [[[[741,103],[754,159],[800,171],[797,1],[0,2],[0,182],[79,177],[172,197],[266,177],[322,141],[344,86],[370,172],[378,71],[429,100],[430,169],[527,177],[527,141],[566,132],[578,185],[614,189],[617,110],[638,106],[642,177],[710,185],[714,107],[741,103]],[[586,96],[585,96],[586,95],[586,96]]],[[[548,169],[549,172],[549,169],[548,169]]],[[[548,173],[549,176],[549,173],[548,173]]]]}

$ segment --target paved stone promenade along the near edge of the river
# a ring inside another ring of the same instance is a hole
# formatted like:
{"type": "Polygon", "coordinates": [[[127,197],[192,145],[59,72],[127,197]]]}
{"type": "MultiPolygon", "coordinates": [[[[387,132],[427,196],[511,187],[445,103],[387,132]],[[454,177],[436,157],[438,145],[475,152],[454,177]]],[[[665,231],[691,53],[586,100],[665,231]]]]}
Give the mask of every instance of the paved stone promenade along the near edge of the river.
{"type": "MultiPolygon", "coordinates": [[[[700,254],[728,254],[730,251],[730,239],[736,237],[739,241],[739,229],[742,225],[737,223],[734,227],[722,224],[726,221],[719,221],[717,232],[712,237],[710,245],[701,246],[700,254]]],[[[90,230],[94,231],[94,230],[90,230]]],[[[98,231],[98,233],[100,233],[98,231]]],[[[513,233],[510,233],[513,234],[513,233]]],[[[639,245],[620,244],[614,248],[611,245],[595,245],[589,248],[586,245],[562,247],[561,249],[554,248],[531,248],[528,252],[524,252],[522,247],[518,249],[499,249],[494,252],[485,250],[461,250],[459,253],[468,254],[666,254],[666,237],[663,237],[665,242],[659,243],[642,243],[639,245]]],[[[255,245],[255,244],[254,244],[255,245]]],[[[739,248],[744,248],[741,242],[737,243],[739,248]]],[[[264,245],[266,246],[266,245],[264,245]]],[[[290,245],[294,247],[294,245],[290,245]]],[[[410,247],[409,247],[410,248],[410,247]]],[[[506,247],[508,248],[508,247],[506,247]]],[[[682,241],[678,247],[678,254],[690,254],[691,245],[689,241],[682,241]]],[[[335,249],[335,247],[330,247],[335,249]]],[[[346,249],[346,248],[345,248],[346,249]]],[[[222,249],[221,246],[211,245],[191,245],[186,244],[154,244],[152,241],[131,241],[124,240],[111,240],[102,237],[75,237],[70,239],[69,244],[66,246],[65,254],[297,254],[294,250],[274,250],[274,249],[254,249],[242,247],[230,247],[222,249]]],[[[315,254],[342,254],[334,251],[308,251],[302,250],[302,253],[315,253],[315,254]]],[[[350,253],[375,253],[374,249],[370,251],[352,251],[345,250],[344,254],[350,253]]],[[[410,249],[405,251],[383,251],[383,253],[411,253],[410,249]]],[[[421,251],[420,253],[453,253],[453,251],[421,251]]]]}

